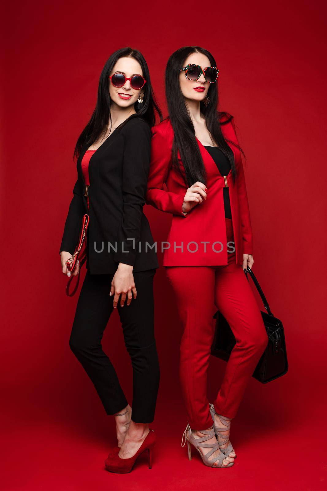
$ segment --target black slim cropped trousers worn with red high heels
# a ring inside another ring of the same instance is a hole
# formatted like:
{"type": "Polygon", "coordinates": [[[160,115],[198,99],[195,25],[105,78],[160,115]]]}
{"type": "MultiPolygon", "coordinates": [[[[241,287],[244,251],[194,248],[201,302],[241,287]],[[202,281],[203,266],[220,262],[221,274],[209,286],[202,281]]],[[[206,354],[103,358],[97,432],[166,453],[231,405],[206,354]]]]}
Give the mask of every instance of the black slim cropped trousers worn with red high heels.
{"type": "MultiPolygon", "coordinates": [[[[154,338],[153,277],[155,269],[133,273],[137,298],[117,310],[133,367],[132,420],[151,423],[159,386],[159,361],[154,338]]],[[[92,380],[107,414],[127,406],[116,371],[103,352],[101,339],[113,311],[109,297],[113,274],[87,270],[76,306],[70,347],[92,380]]]]}

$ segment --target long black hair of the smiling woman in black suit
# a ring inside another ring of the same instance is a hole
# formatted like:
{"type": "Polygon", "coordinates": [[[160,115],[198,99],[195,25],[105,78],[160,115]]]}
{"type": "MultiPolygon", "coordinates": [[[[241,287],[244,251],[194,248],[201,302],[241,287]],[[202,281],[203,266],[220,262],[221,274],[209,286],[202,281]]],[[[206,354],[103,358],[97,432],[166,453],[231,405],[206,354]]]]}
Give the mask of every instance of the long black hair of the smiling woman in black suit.
{"type": "MultiPolygon", "coordinates": [[[[88,145],[92,145],[92,143],[98,141],[101,136],[105,135],[108,129],[108,122],[110,124],[110,127],[112,125],[110,112],[111,99],[109,95],[109,75],[117,60],[119,58],[122,58],[123,56],[134,58],[140,63],[143,71],[143,77],[147,81],[142,88],[142,90],[144,91],[143,103],[136,102],[134,108],[137,114],[132,114],[127,119],[129,120],[137,116],[142,116],[150,126],[154,126],[156,111],[159,115],[160,121],[162,121],[162,113],[153,94],[149,68],[144,56],[138,50],[133,50],[130,47],[121,48],[120,50],[115,51],[108,58],[102,69],[99,80],[97,105],[89,122],[85,126],[82,133],[79,135],[76,142],[74,151],[74,157],[76,158],[78,158],[84,144],[87,143],[88,145]]],[[[121,123],[117,129],[123,128],[126,122],[127,120],[121,123]]]]}

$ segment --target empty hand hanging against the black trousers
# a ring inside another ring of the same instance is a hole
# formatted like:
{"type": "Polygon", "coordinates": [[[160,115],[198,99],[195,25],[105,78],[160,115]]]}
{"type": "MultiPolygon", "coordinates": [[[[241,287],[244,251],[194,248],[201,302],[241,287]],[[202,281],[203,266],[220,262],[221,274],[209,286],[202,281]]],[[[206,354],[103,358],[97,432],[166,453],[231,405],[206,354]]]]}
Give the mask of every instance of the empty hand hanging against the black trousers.
{"type": "Polygon", "coordinates": [[[127,305],[132,301],[132,297],[136,299],[136,288],[134,283],[133,276],[133,266],[129,266],[128,264],[119,263],[116,273],[112,278],[111,289],[110,289],[110,297],[114,296],[114,308],[117,308],[119,296],[122,295],[120,304],[121,307],[124,307],[126,295],[127,295],[127,305]]]}

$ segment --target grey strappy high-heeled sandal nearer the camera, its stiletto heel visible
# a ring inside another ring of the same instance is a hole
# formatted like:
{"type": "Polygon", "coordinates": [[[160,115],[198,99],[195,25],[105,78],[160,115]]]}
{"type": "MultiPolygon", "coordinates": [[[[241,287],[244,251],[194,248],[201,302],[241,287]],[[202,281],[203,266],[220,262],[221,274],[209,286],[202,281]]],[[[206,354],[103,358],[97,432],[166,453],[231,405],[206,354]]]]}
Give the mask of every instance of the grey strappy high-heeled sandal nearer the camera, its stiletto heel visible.
{"type": "Polygon", "coordinates": [[[192,430],[190,428],[190,425],[188,424],[183,436],[182,436],[182,443],[181,446],[183,447],[185,443],[187,442],[187,449],[188,449],[188,460],[192,460],[192,454],[191,454],[191,443],[192,445],[195,446],[195,448],[198,450],[199,454],[201,455],[201,459],[203,461],[203,464],[207,465],[208,467],[217,467],[217,468],[222,468],[222,467],[231,467],[234,465],[233,462],[230,462],[227,465],[223,464],[223,460],[225,459],[226,455],[224,453],[220,453],[218,457],[214,457],[212,460],[209,460],[209,457],[219,449],[219,443],[217,443],[212,446],[212,443],[203,443],[203,441],[209,440],[213,436],[215,436],[215,432],[213,427],[210,430],[201,430],[201,433],[203,433],[206,436],[201,436],[200,438],[195,438],[193,436],[192,430]],[[183,443],[184,441],[184,443],[183,443]],[[199,450],[199,447],[206,447],[206,448],[211,448],[212,450],[209,450],[208,453],[205,455],[201,454],[201,451],[199,450]],[[217,462],[217,465],[215,465],[215,462],[217,462]]]}

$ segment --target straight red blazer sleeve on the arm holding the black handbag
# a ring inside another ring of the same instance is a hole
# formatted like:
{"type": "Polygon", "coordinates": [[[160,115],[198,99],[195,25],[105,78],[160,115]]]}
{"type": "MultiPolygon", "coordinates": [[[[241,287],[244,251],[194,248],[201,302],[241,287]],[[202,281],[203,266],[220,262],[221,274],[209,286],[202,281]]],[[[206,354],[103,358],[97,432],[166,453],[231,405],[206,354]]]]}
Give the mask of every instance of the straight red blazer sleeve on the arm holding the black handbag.
{"type": "MultiPolygon", "coordinates": [[[[234,137],[236,139],[236,142],[238,143],[234,118],[232,118],[231,124],[235,135],[234,137]]],[[[240,220],[241,220],[241,227],[242,227],[243,254],[253,254],[253,238],[252,238],[252,226],[251,226],[248,194],[245,184],[242,156],[241,156],[241,152],[239,152],[238,150],[237,150],[237,155],[238,158],[236,159],[237,160],[236,185],[237,185],[237,193],[238,193],[239,208],[240,208],[240,220]]]]}

